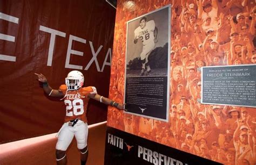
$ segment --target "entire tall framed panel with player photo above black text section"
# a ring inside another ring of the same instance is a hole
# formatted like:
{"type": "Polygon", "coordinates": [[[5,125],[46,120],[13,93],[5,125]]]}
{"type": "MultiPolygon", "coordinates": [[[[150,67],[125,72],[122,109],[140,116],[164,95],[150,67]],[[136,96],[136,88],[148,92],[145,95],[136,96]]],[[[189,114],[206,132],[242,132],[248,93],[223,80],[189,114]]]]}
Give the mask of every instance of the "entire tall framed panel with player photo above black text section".
{"type": "Polygon", "coordinates": [[[127,113],[167,120],[170,73],[170,5],[127,21],[127,113]]]}

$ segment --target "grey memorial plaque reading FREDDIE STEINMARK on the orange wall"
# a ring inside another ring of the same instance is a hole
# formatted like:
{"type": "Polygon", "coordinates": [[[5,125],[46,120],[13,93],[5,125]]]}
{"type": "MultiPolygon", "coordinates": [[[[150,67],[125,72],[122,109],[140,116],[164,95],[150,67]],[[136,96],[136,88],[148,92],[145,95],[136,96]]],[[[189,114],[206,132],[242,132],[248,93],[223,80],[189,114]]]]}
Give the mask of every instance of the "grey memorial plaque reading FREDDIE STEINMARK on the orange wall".
{"type": "Polygon", "coordinates": [[[256,65],[202,68],[202,104],[256,107],[256,65]]]}

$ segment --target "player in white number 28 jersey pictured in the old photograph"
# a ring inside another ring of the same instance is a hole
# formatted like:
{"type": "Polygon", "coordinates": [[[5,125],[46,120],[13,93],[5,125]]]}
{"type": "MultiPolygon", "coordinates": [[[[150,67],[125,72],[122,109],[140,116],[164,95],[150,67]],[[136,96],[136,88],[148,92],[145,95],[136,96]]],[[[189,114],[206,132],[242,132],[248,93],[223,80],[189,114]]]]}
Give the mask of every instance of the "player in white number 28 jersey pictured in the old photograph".
{"type": "Polygon", "coordinates": [[[143,17],[139,21],[139,27],[134,30],[134,44],[137,44],[138,39],[142,40],[142,53],[140,53],[140,60],[142,60],[142,72],[141,76],[144,74],[149,74],[151,69],[149,65],[149,54],[154,48],[157,42],[158,29],[154,23],[154,20],[147,22],[147,18],[143,17]],[[145,69],[146,67],[146,69],[145,69]]]}

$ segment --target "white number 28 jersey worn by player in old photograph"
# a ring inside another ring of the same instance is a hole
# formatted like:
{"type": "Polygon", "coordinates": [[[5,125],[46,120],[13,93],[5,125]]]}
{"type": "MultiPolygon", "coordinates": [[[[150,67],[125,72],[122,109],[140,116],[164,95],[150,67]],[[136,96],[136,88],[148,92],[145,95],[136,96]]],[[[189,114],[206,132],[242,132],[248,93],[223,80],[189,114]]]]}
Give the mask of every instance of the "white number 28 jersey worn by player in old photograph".
{"type": "Polygon", "coordinates": [[[154,28],[156,28],[154,21],[147,21],[144,28],[139,26],[134,30],[134,36],[138,36],[142,40],[143,45],[154,43],[154,28]]]}

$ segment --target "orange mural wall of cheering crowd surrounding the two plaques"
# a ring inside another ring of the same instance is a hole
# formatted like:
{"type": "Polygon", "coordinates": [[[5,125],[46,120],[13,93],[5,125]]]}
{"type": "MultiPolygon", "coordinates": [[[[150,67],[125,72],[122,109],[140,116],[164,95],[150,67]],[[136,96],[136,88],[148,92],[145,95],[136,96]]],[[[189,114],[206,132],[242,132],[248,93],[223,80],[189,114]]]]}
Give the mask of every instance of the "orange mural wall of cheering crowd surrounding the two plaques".
{"type": "Polygon", "coordinates": [[[123,102],[126,22],[172,5],[169,122],[109,107],[107,126],[223,164],[255,164],[255,108],[206,105],[203,66],[255,64],[255,2],[118,1],[110,98],[123,102]]]}

